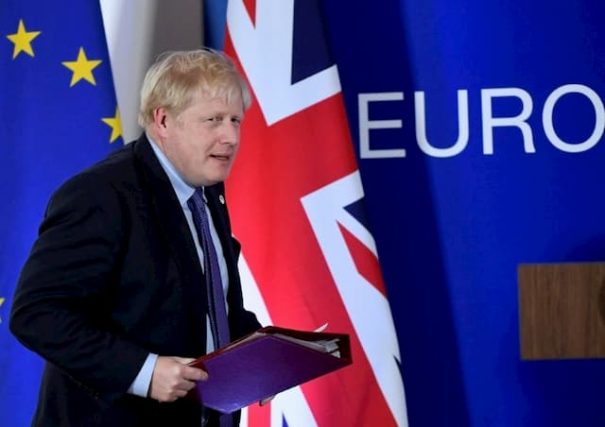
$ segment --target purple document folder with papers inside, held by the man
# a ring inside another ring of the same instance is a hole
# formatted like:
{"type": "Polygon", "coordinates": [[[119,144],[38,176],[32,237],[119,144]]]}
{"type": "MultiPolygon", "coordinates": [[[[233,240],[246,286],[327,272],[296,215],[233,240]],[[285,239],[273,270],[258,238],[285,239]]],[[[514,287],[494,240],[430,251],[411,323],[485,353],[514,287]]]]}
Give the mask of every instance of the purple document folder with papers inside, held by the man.
{"type": "Polygon", "coordinates": [[[191,362],[208,372],[208,380],[199,381],[189,397],[231,413],[350,364],[346,334],[267,326],[191,362]],[[308,343],[329,341],[331,348],[308,348],[289,337],[308,343]],[[326,352],[330,350],[334,351],[326,352]]]}

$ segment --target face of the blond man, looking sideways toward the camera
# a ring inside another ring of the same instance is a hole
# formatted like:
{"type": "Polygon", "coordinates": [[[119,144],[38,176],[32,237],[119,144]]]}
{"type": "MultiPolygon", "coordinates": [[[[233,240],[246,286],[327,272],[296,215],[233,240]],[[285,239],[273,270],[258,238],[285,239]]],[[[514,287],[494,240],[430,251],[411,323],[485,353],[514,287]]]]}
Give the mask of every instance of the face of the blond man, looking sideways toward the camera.
{"type": "Polygon", "coordinates": [[[188,184],[200,187],[222,182],[239,148],[243,115],[239,96],[227,102],[198,94],[178,116],[166,113],[160,145],[188,184]]]}

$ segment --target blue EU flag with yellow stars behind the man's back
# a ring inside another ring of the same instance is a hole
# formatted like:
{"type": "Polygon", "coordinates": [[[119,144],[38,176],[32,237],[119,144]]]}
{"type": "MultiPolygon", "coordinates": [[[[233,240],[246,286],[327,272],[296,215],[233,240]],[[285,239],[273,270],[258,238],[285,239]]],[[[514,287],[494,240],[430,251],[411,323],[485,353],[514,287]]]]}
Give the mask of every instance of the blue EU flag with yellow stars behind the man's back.
{"type": "Polygon", "coordinates": [[[8,314],[49,196],[118,141],[99,2],[0,1],[0,425],[29,425],[35,408],[42,361],[8,314]]]}

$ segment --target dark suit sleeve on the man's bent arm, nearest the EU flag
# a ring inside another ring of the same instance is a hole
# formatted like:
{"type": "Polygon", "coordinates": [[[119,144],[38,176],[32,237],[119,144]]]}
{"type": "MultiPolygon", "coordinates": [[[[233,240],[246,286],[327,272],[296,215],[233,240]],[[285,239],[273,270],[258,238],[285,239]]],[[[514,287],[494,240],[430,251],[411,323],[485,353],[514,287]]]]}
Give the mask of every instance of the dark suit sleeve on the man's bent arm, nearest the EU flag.
{"type": "Polygon", "coordinates": [[[57,191],[21,272],[10,318],[26,347],[107,400],[126,392],[148,355],[111,319],[126,227],[117,194],[91,176],[57,191]]]}

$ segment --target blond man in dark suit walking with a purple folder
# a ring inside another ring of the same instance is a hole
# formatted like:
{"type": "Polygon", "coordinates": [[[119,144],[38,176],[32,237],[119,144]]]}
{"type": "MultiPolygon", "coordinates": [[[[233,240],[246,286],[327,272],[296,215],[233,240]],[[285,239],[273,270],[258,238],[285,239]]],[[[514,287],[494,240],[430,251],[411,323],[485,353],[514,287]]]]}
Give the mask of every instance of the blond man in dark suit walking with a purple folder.
{"type": "Polygon", "coordinates": [[[226,339],[260,326],[222,184],[249,104],[223,54],[165,55],[141,90],[145,134],[53,195],[10,319],[47,361],[34,425],[219,425],[185,398],[207,378],[187,363],[224,345],[221,310],[226,339]]]}

